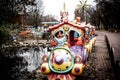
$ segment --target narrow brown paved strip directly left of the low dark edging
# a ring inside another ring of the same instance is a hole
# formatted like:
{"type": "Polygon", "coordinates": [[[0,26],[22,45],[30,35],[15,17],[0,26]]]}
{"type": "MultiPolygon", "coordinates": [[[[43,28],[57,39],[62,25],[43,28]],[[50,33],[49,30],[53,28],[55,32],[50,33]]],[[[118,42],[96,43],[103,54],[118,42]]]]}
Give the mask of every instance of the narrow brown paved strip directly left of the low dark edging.
{"type": "Polygon", "coordinates": [[[97,31],[96,40],[96,74],[99,80],[114,80],[114,74],[110,62],[109,51],[105,40],[106,32],[97,31]]]}

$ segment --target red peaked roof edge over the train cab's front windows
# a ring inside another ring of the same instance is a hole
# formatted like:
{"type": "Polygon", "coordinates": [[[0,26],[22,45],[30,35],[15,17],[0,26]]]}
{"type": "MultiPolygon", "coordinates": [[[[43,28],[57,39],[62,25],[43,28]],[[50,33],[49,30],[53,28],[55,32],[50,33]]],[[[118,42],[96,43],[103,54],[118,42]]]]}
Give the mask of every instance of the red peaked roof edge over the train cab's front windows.
{"type": "Polygon", "coordinates": [[[68,20],[65,20],[64,22],[61,22],[61,23],[59,23],[57,25],[49,27],[49,30],[53,31],[53,30],[58,29],[59,27],[65,25],[65,24],[85,31],[85,25],[84,24],[83,25],[82,24],[79,25],[79,24],[75,24],[75,23],[69,22],[68,20]]]}

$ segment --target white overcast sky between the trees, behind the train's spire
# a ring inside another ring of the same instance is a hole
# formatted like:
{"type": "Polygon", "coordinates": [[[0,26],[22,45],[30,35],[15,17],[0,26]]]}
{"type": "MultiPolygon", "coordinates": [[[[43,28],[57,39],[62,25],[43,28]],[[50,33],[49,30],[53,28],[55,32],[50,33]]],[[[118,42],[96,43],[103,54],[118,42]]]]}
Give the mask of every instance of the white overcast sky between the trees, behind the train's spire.
{"type": "MultiPolygon", "coordinates": [[[[82,2],[85,0],[81,0],[82,2]]],[[[69,13],[69,20],[74,19],[74,10],[76,5],[80,4],[79,0],[43,0],[44,13],[55,15],[57,20],[60,20],[60,11],[63,10],[63,4],[66,4],[66,10],[69,13]]],[[[87,4],[95,5],[93,0],[88,0],[87,4]]]]}

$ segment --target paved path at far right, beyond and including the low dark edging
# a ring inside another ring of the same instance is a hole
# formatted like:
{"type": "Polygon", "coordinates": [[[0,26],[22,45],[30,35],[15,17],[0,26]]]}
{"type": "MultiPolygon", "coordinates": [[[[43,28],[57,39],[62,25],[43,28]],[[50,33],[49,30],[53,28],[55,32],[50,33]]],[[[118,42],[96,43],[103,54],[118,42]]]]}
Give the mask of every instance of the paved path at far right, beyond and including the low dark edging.
{"type": "MultiPolygon", "coordinates": [[[[111,64],[116,76],[116,80],[120,79],[120,33],[109,31],[97,31],[106,35],[108,40],[109,56],[111,58],[111,64]]],[[[102,38],[102,37],[101,37],[102,38]]]]}

